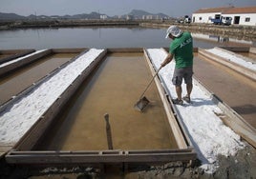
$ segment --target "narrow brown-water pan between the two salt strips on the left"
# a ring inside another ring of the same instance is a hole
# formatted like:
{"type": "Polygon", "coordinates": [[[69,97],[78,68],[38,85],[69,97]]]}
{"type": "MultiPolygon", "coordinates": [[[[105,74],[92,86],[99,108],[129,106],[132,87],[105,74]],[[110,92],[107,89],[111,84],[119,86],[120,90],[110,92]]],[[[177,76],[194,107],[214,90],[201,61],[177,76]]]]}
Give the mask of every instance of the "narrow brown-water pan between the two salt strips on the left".
{"type": "Polygon", "coordinates": [[[49,72],[66,63],[76,53],[53,53],[43,57],[30,65],[19,70],[15,70],[0,78],[0,105],[11,99],[32,83],[38,81],[49,72]]]}

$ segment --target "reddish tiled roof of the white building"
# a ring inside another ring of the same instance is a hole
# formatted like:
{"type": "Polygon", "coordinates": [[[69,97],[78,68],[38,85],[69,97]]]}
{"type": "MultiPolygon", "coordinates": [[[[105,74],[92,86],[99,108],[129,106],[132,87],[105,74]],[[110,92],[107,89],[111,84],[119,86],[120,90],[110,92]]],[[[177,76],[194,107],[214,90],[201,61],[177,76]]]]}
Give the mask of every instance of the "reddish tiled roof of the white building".
{"type": "Polygon", "coordinates": [[[234,8],[234,7],[223,7],[223,8],[210,8],[210,9],[201,9],[197,10],[194,13],[212,13],[212,12],[221,12],[221,13],[256,13],[256,7],[244,7],[244,8],[234,8]]]}

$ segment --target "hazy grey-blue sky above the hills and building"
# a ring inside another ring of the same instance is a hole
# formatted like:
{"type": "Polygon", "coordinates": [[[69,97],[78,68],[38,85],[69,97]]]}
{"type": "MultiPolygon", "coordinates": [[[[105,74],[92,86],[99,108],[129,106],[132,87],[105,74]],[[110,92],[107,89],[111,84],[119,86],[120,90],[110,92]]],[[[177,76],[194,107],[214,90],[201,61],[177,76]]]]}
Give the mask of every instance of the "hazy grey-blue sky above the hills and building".
{"type": "Polygon", "coordinates": [[[19,15],[74,15],[105,13],[109,16],[123,15],[131,10],[146,10],[179,17],[191,15],[195,10],[226,6],[256,6],[256,0],[0,0],[0,12],[19,15]]]}

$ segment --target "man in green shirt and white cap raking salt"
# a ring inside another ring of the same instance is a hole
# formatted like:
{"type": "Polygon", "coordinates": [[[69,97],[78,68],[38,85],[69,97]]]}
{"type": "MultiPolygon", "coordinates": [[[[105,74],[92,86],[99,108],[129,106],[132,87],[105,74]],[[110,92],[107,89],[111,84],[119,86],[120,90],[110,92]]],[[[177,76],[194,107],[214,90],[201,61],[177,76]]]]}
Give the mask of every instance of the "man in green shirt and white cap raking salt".
{"type": "Polygon", "coordinates": [[[166,31],[165,38],[171,38],[173,42],[170,44],[170,49],[167,57],[161,63],[161,68],[170,63],[175,58],[175,70],[172,78],[172,83],[175,86],[177,99],[173,99],[173,103],[182,105],[183,101],[190,103],[190,94],[193,88],[193,39],[189,32],[182,32],[177,26],[170,26],[166,31]],[[181,98],[181,83],[182,79],[186,84],[187,94],[181,98]]]}

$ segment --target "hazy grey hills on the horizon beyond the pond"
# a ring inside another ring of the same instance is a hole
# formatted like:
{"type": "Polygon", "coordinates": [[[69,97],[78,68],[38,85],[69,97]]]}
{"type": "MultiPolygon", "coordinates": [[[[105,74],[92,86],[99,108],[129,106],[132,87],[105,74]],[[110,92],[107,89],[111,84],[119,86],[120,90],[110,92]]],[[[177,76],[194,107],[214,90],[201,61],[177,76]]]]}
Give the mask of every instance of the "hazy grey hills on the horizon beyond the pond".
{"type": "MultiPolygon", "coordinates": [[[[98,12],[91,12],[89,14],[87,13],[82,13],[82,14],[75,14],[75,15],[51,15],[51,16],[47,16],[47,15],[29,15],[29,16],[22,16],[22,15],[18,15],[15,13],[3,13],[0,12],[0,20],[30,20],[30,19],[100,19],[100,15],[106,15],[106,14],[100,14],[98,12]]],[[[163,13],[158,13],[158,14],[154,14],[154,13],[150,13],[144,10],[132,10],[130,13],[128,14],[124,14],[121,15],[121,17],[125,18],[126,15],[132,15],[137,19],[142,19],[142,17],[144,15],[154,15],[154,16],[159,16],[160,18],[166,18],[168,17],[168,15],[163,14],[163,13]]],[[[110,17],[108,15],[106,15],[107,18],[117,18],[117,16],[114,17],[110,17]]]]}

